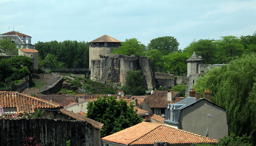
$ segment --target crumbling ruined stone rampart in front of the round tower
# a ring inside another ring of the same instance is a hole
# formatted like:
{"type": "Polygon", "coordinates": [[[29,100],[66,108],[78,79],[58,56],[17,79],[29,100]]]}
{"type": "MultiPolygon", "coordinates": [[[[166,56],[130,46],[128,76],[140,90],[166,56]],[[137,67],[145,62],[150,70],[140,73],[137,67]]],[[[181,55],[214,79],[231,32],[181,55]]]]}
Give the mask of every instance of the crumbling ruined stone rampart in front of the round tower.
{"type": "Polygon", "coordinates": [[[141,70],[144,75],[143,84],[148,89],[155,85],[154,71],[150,65],[150,59],[137,55],[99,55],[100,60],[91,60],[91,79],[96,81],[112,80],[125,85],[125,78],[128,71],[141,70]],[[98,66],[100,64],[100,66],[98,66]]]}

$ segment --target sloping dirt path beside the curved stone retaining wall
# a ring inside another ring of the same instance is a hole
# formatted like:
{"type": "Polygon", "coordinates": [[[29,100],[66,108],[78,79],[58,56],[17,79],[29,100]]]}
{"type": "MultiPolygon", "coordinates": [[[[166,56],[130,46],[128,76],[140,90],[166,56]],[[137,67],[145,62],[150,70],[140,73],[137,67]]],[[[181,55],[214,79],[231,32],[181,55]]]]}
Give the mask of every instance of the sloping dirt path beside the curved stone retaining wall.
{"type": "Polygon", "coordinates": [[[52,84],[54,84],[58,79],[60,78],[60,75],[57,74],[33,74],[32,79],[37,80],[43,83],[43,88],[27,88],[25,89],[22,94],[26,95],[33,95],[36,94],[37,92],[39,93],[40,91],[45,90],[52,84]]]}

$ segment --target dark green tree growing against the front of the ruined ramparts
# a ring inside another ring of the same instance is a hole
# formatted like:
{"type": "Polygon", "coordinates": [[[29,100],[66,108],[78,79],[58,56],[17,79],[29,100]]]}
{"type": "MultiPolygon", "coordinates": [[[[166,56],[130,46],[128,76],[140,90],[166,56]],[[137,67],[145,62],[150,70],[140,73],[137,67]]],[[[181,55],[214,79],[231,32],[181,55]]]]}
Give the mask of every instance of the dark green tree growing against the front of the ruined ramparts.
{"type": "Polygon", "coordinates": [[[126,76],[126,85],[122,88],[126,94],[145,95],[146,87],[143,86],[141,71],[129,71],[126,76]]]}

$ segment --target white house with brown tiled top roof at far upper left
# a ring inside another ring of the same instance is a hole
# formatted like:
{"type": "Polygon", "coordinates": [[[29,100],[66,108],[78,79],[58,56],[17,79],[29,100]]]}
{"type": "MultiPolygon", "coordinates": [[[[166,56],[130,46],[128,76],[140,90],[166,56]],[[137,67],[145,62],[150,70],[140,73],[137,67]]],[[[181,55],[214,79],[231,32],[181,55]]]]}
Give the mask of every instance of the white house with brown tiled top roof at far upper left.
{"type": "Polygon", "coordinates": [[[11,31],[8,33],[0,34],[0,39],[5,39],[5,38],[11,38],[16,44],[17,48],[25,48],[25,49],[35,49],[35,46],[31,44],[31,36],[22,34],[16,32],[16,31],[11,31]]]}

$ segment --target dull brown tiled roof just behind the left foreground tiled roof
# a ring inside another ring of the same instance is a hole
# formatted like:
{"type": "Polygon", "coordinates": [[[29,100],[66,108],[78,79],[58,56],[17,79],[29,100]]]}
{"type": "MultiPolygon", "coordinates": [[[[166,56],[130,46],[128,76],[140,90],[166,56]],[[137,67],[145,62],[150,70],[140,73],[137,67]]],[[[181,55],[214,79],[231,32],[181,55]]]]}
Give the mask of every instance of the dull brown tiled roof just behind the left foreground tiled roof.
{"type": "Polygon", "coordinates": [[[77,99],[75,95],[37,95],[35,96],[40,99],[45,99],[47,101],[51,101],[61,104],[63,107],[70,105],[71,103],[77,103],[77,99]]]}

